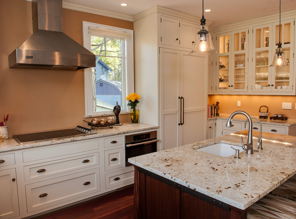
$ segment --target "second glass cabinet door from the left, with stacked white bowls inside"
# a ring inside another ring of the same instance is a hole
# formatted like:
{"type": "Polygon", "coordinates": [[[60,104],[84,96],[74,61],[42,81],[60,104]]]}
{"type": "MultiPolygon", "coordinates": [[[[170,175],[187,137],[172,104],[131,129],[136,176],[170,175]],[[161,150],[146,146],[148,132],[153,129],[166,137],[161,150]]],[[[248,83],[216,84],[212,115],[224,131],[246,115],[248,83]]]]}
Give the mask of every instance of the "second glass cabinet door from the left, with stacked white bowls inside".
{"type": "Polygon", "coordinates": [[[246,92],[248,86],[248,29],[232,32],[231,91],[246,92]]]}

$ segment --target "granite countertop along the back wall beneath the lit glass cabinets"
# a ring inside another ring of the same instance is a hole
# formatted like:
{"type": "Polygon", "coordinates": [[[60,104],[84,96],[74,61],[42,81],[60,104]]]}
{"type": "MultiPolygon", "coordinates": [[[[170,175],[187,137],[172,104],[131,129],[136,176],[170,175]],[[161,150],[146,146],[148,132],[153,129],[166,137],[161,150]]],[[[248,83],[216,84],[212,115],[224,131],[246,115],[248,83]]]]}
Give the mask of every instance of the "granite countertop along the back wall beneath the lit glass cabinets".
{"type": "MultiPolygon", "coordinates": [[[[211,117],[207,118],[207,120],[212,120],[212,119],[224,119],[227,120],[231,114],[226,114],[226,113],[219,113],[218,116],[216,117],[211,117]]],[[[255,117],[260,120],[262,124],[271,124],[271,125],[283,125],[283,126],[293,126],[296,125],[296,120],[295,119],[287,119],[287,120],[274,120],[274,119],[263,119],[259,118],[259,116],[251,116],[255,117]]],[[[235,121],[246,121],[246,117],[244,115],[235,115],[233,117],[233,120],[235,121]]],[[[259,123],[257,120],[252,120],[253,123],[259,123]]]]}

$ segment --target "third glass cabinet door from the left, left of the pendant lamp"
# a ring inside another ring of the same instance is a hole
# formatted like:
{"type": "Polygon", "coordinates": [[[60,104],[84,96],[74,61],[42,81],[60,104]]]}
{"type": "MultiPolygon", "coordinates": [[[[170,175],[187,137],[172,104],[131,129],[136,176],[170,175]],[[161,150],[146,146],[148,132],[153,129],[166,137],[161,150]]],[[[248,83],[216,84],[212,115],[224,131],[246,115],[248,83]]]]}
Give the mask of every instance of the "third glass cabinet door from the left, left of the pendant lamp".
{"type": "Polygon", "coordinates": [[[252,54],[252,92],[270,92],[272,62],[269,33],[272,25],[261,25],[253,28],[253,54],[252,54]],[[269,61],[271,60],[271,61],[269,61]]]}

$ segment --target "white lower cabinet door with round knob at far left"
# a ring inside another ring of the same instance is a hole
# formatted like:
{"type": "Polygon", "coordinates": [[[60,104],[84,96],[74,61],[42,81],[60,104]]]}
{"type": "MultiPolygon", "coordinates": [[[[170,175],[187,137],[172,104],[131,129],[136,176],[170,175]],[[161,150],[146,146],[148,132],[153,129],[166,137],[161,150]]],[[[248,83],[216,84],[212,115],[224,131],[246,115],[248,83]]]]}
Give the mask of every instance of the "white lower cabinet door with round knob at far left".
{"type": "MultiPolygon", "coordinates": [[[[0,156],[1,159],[1,156],[0,156]]],[[[6,162],[6,160],[5,160],[6,162]]],[[[0,163],[1,167],[1,163],[0,163]]],[[[0,171],[0,218],[19,216],[19,199],[17,191],[16,169],[0,171]]]]}

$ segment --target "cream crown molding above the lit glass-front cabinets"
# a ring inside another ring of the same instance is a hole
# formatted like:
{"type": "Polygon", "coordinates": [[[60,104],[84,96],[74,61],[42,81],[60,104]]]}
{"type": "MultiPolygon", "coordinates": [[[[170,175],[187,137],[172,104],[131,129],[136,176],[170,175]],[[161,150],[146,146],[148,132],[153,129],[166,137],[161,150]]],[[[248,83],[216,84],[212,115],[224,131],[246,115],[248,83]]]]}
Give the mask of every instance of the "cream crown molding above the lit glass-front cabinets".
{"type": "Polygon", "coordinates": [[[242,27],[245,28],[246,26],[249,26],[249,25],[254,26],[257,23],[274,22],[273,20],[279,20],[279,16],[281,17],[281,20],[283,20],[283,18],[295,16],[295,14],[296,14],[296,10],[290,10],[290,11],[281,12],[281,14],[280,13],[270,14],[270,15],[252,18],[252,19],[248,19],[248,20],[244,20],[236,23],[225,24],[219,27],[215,27],[214,33],[219,33],[220,31],[225,32],[225,30],[227,29],[231,30],[235,28],[242,28],[242,27]]]}

